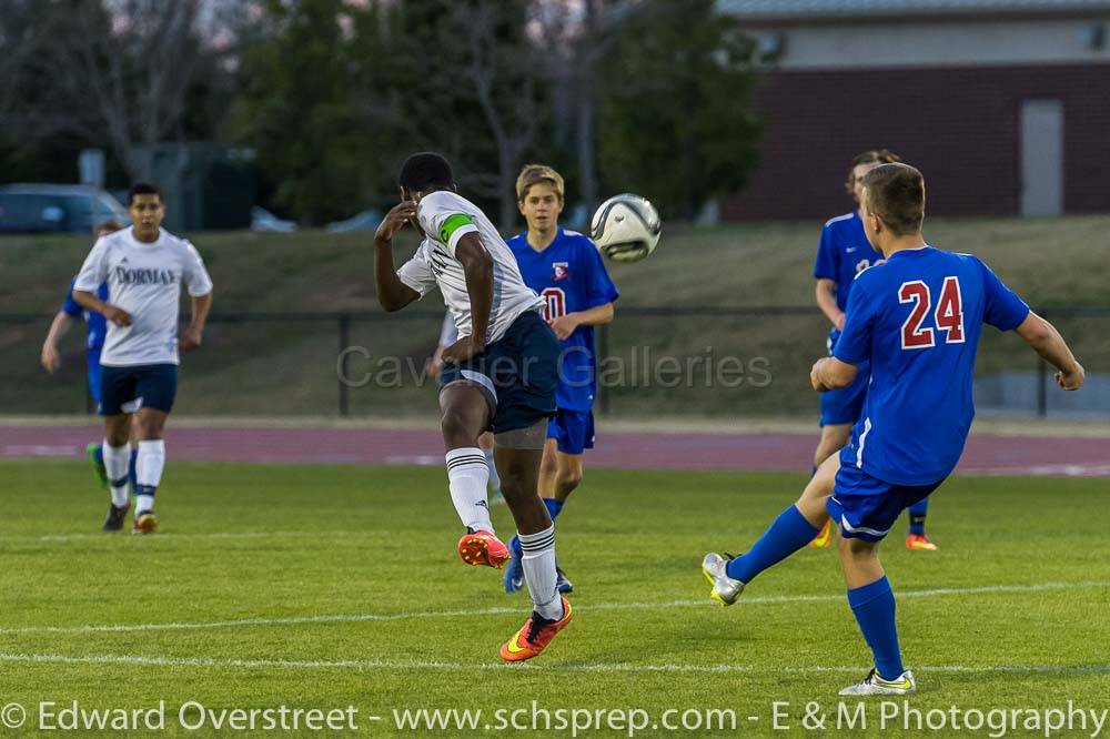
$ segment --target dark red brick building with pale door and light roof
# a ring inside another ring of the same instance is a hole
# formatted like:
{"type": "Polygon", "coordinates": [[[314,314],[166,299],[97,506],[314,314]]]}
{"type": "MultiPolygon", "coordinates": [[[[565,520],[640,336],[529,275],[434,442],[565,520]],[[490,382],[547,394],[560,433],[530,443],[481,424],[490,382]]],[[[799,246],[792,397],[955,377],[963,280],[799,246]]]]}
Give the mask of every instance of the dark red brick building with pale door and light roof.
{"type": "Polygon", "coordinates": [[[921,168],[932,215],[1110,212],[1110,0],[719,8],[775,60],[761,162],[723,219],[846,211],[847,162],[872,146],[921,168]]]}

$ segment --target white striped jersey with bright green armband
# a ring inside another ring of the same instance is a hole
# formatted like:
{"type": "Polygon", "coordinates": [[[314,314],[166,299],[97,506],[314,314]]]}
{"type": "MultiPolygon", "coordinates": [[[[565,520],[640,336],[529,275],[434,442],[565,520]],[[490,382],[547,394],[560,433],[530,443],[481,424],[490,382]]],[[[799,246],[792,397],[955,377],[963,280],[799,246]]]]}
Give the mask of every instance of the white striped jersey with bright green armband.
{"type": "Polygon", "coordinates": [[[524,284],[508,244],[477,205],[454,192],[440,190],[421,199],[416,219],[424,230],[424,241],[413,257],[401,265],[397,276],[421,297],[438,284],[460,337],[470,336],[472,331],[466,275],[462,262],[455,259],[455,246],[465,234],[476,233],[493,257],[493,305],[486,327],[487,343],[504,336],[521,314],[543,310],[543,300],[524,284]]]}

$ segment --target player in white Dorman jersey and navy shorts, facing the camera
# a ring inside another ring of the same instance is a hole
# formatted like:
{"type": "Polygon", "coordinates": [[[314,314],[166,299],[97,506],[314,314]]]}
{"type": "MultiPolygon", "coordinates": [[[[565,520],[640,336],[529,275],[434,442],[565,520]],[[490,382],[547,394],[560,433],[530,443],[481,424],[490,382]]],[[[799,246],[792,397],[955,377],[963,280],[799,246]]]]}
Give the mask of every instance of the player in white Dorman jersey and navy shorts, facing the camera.
{"type": "Polygon", "coordinates": [[[73,300],[108,320],[100,356],[104,467],[112,504],[104,530],[119,530],[131,507],[129,431],[133,428],[135,517],[133,534],[158,530],[154,493],[165,467],[165,419],[178,392],[178,356],[201,345],[212,307],[212,280],[184,239],[162,230],[165,206],[158,188],[139,183],[128,195],[134,225],[99,239],[73,285],[73,300]],[[97,297],[108,283],[111,303],[97,297]],[[178,337],[181,286],[192,297],[192,321],[178,337]]]}

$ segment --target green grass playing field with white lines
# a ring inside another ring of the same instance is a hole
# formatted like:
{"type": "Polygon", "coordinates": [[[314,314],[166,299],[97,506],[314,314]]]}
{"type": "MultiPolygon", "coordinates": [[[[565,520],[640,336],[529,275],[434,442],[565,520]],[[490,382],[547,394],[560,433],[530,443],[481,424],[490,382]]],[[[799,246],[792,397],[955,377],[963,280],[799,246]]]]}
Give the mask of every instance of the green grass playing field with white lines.
{"type": "MultiPolygon", "coordinates": [[[[0,702],[164,700],[171,735],[186,733],[190,700],[353,705],[366,735],[394,732],[395,709],[487,721],[531,716],[533,700],[653,720],[731,709],[740,730],[774,733],[773,701],[789,701],[800,731],[807,701],[835,710],[870,664],[831,550],[799,553],[727,610],[706,598],[702,555],[743,550],[801,475],[589,470],[559,520],[576,619],[509,667],[497,648],[527,599],[458,561],[441,469],[171,462],[162,533],[143,538],[99,532],[107,494],[82,464],[4,462],[0,478],[0,702]]],[[[914,707],[1108,708],[1110,539],[1096,513],[1108,502],[1104,480],[959,477],[934,498],[940,551],[891,537],[914,707]]],[[[683,732],[640,736],[653,733],[683,732]]]]}

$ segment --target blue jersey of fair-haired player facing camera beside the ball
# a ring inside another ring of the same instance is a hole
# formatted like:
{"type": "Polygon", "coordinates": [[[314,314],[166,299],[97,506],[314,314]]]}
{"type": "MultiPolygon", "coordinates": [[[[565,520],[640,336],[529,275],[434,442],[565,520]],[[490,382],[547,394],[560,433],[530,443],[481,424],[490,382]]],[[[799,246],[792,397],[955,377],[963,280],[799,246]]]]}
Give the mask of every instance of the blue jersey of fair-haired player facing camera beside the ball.
{"type": "MultiPolygon", "coordinates": [[[[544,320],[588,311],[618,296],[602,255],[588,237],[559,229],[555,241],[537,252],[525,234],[508,241],[525,284],[544,298],[544,320]]],[[[589,411],[597,393],[594,327],[578,326],[562,342],[563,360],[555,403],[566,411],[589,411]]]]}

